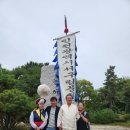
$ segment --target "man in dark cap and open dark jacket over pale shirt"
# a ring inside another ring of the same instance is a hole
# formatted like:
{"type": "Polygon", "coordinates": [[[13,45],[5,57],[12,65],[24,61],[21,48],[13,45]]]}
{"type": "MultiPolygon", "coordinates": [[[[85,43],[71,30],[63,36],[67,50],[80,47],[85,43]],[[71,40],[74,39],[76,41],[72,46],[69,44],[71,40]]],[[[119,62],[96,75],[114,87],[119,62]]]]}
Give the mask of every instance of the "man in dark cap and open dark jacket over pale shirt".
{"type": "Polygon", "coordinates": [[[51,97],[51,106],[48,106],[45,110],[48,113],[47,128],[46,130],[59,130],[57,127],[57,118],[60,107],[57,106],[57,98],[51,97]]]}

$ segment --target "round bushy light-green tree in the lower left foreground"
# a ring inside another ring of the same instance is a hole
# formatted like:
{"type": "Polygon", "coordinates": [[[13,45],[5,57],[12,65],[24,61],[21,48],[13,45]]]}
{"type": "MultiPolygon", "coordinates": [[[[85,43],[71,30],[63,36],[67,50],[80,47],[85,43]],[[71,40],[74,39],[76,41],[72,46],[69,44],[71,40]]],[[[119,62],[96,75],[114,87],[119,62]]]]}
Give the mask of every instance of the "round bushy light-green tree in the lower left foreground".
{"type": "Polygon", "coordinates": [[[13,130],[16,122],[24,120],[33,109],[32,100],[17,89],[0,93],[0,126],[2,130],[13,130]]]}

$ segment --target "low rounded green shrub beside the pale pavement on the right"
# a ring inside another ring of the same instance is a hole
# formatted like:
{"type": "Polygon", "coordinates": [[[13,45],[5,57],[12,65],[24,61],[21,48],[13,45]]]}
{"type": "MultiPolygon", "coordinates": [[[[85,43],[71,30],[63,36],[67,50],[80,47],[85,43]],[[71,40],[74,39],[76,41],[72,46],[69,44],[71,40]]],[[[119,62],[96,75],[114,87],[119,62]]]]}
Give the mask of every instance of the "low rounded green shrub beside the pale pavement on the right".
{"type": "Polygon", "coordinates": [[[91,114],[91,122],[96,124],[108,124],[115,121],[116,115],[111,109],[95,111],[91,114]]]}

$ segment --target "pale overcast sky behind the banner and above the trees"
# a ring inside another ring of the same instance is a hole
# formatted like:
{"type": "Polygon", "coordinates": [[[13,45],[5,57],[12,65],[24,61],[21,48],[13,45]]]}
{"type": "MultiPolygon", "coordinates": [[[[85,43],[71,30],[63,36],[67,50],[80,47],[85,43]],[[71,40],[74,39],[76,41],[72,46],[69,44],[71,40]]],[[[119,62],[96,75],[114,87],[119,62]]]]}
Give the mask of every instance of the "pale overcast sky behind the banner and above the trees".
{"type": "Polygon", "coordinates": [[[77,34],[78,79],[102,86],[116,66],[130,76],[130,0],[0,0],[0,64],[12,69],[26,62],[50,62],[53,38],[64,35],[64,15],[77,34]]]}

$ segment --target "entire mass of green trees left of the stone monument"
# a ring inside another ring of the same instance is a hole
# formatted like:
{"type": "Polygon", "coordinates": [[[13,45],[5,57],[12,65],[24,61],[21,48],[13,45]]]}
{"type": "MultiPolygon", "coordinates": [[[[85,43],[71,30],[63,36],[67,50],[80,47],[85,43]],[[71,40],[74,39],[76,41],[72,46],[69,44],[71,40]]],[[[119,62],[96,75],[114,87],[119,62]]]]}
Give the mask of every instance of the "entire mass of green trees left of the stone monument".
{"type": "Polygon", "coordinates": [[[29,62],[12,71],[0,67],[0,127],[12,130],[16,121],[27,119],[40,84],[41,64],[29,62]],[[25,94],[26,93],[26,94],[25,94]],[[32,97],[30,99],[30,97],[32,97]]]}

